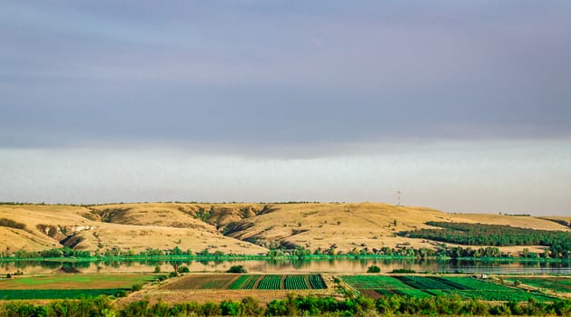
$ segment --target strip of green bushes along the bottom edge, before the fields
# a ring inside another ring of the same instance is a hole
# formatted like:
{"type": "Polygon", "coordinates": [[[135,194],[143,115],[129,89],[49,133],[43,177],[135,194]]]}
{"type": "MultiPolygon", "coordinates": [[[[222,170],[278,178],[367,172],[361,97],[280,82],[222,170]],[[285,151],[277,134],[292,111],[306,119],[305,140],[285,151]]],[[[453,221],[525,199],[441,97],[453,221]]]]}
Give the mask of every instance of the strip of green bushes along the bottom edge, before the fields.
{"type": "Polygon", "coordinates": [[[378,300],[367,297],[336,300],[331,297],[294,296],[274,300],[263,308],[258,300],[246,297],[241,301],[222,303],[175,303],[148,301],[129,303],[117,307],[105,296],[77,301],[64,300],[42,305],[32,303],[5,303],[0,306],[2,316],[285,316],[285,315],[333,315],[351,316],[369,314],[396,315],[571,315],[571,301],[541,303],[507,302],[483,303],[477,300],[462,301],[457,296],[432,296],[414,298],[387,296],[378,300]]]}

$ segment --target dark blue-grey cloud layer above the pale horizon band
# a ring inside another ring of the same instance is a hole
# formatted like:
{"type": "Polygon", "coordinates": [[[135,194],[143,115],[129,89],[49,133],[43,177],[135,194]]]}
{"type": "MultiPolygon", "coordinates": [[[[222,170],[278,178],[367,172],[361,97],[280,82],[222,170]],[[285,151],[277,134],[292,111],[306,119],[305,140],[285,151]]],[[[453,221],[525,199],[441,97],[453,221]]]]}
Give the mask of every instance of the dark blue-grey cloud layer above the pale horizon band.
{"type": "Polygon", "coordinates": [[[0,145],[568,139],[569,8],[12,2],[0,145]]]}

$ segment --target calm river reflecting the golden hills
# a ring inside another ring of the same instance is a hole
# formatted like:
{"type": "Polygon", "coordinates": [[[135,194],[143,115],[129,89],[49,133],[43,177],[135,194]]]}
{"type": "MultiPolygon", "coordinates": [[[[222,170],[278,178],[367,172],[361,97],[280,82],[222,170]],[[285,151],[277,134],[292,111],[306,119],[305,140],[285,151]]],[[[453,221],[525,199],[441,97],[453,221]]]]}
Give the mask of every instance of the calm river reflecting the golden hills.
{"type": "Polygon", "coordinates": [[[310,261],[113,261],[113,262],[4,262],[0,274],[73,274],[73,273],[153,273],[172,272],[175,266],[188,266],[191,272],[225,272],[232,265],[243,265],[252,274],[359,274],[370,265],[378,265],[381,272],[410,269],[416,272],[448,272],[467,274],[565,274],[571,275],[570,262],[515,262],[476,260],[415,260],[415,259],[354,259],[335,258],[310,261]]]}

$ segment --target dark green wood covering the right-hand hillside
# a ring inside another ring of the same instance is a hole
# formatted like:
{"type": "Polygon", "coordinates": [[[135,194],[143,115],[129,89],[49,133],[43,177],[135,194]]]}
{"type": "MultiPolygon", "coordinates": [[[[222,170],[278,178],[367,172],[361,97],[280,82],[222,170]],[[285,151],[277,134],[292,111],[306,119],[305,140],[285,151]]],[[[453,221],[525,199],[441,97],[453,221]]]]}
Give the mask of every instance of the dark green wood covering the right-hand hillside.
{"type": "MultiPolygon", "coordinates": [[[[435,221],[429,221],[427,225],[441,229],[417,229],[400,232],[399,235],[459,245],[545,245],[549,247],[549,251],[543,256],[571,258],[571,233],[565,231],[435,221]]],[[[529,253],[527,255],[537,256],[529,253]]],[[[475,254],[467,256],[478,257],[475,254]]]]}

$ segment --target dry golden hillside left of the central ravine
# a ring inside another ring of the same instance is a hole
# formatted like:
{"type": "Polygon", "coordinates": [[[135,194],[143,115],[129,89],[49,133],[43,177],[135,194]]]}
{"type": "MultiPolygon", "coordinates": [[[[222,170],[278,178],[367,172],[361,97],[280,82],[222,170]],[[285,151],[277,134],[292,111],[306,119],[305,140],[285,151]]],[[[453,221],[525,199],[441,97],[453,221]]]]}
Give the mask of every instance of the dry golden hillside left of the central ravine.
{"type": "Polygon", "coordinates": [[[146,248],[258,255],[268,250],[222,235],[176,204],[116,204],[94,207],[0,205],[0,251],[38,251],[68,245],[104,252],[146,248]],[[5,221],[6,222],[6,221],[5,221]]]}

